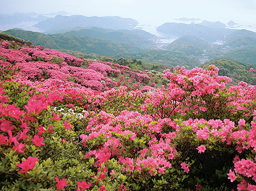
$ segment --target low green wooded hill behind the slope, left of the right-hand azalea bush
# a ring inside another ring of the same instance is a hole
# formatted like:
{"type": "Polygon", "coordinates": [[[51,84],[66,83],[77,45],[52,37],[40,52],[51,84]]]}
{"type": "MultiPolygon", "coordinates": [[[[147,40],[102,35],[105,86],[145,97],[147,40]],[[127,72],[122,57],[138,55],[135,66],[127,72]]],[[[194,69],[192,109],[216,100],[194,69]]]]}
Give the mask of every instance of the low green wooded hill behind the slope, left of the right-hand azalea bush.
{"type": "Polygon", "coordinates": [[[185,66],[187,69],[192,69],[200,64],[196,58],[187,57],[186,54],[168,51],[168,50],[156,50],[150,49],[145,52],[134,53],[134,54],[118,54],[116,59],[137,59],[146,61],[156,65],[165,65],[167,67],[175,67],[176,65],[185,66]]]}

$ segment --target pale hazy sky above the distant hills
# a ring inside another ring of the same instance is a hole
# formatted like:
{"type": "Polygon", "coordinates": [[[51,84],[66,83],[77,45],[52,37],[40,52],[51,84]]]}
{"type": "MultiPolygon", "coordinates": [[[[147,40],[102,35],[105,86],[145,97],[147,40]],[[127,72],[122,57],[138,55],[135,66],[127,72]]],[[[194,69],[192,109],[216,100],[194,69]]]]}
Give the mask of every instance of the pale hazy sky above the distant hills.
{"type": "Polygon", "coordinates": [[[158,26],[182,17],[256,25],[256,0],[0,0],[0,14],[58,11],[121,16],[158,26]]]}

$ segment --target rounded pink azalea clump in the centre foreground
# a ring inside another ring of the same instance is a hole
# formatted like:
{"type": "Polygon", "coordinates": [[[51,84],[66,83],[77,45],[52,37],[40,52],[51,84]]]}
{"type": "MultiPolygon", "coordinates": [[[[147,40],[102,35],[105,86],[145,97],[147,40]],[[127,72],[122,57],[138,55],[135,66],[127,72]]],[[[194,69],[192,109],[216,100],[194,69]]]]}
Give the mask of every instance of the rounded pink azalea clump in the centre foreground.
{"type": "Polygon", "coordinates": [[[147,171],[152,176],[158,173],[164,174],[166,169],[172,167],[168,160],[173,159],[177,151],[171,146],[169,138],[157,140],[155,137],[155,133],[160,132],[162,125],[162,120],[159,120],[158,124],[154,124],[152,118],[142,116],[138,112],[123,111],[115,118],[113,115],[101,111],[100,117],[92,116],[90,118],[86,127],[90,134],[88,136],[82,134],[80,138],[82,138],[84,146],[88,146],[91,140],[104,141],[97,150],[88,152],[85,158],[95,156],[98,159],[95,165],[99,166],[100,163],[106,162],[112,157],[118,157],[119,163],[124,165],[123,171],[126,173],[137,169],[147,171]],[[135,152],[134,158],[126,156],[127,142],[134,142],[137,137],[142,137],[144,134],[152,137],[152,140],[148,142],[148,147],[135,152]],[[103,140],[102,137],[104,137],[103,140]]]}

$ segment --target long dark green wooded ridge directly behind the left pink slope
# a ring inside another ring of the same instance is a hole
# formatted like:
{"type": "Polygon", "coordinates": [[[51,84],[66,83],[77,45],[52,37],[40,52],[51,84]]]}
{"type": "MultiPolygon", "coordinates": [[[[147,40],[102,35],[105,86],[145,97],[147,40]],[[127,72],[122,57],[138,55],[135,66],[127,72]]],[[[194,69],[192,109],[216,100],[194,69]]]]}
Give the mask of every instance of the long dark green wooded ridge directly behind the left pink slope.
{"type": "Polygon", "coordinates": [[[30,40],[34,45],[43,45],[51,49],[68,49],[82,53],[114,56],[118,53],[136,53],[144,51],[141,47],[130,43],[118,43],[102,38],[71,35],[46,35],[23,30],[7,30],[3,33],[30,40]]]}

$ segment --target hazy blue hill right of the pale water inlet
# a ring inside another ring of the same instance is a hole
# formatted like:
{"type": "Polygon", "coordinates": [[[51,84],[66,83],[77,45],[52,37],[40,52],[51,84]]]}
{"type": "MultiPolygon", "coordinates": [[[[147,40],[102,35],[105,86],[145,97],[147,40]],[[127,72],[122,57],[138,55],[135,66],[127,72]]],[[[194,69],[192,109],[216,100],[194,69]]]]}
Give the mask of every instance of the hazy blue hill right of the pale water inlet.
{"type": "Polygon", "coordinates": [[[156,30],[176,36],[193,35],[208,42],[214,42],[224,40],[226,35],[235,31],[223,28],[224,25],[219,22],[207,21],[202,22],[202,24],[164,23],[156,30]]]}

